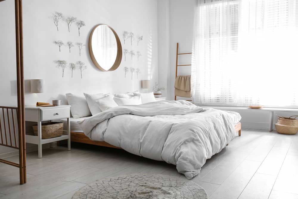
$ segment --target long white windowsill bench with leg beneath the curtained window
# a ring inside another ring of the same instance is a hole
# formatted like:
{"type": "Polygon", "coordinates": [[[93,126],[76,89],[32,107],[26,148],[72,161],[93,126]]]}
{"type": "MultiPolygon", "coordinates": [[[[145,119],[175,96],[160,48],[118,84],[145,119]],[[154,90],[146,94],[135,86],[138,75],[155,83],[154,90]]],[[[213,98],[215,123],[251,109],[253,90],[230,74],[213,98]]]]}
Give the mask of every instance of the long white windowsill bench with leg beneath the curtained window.
{"type": "Polygon", "coordinates": [[[214,108],[225,111],[266,111],[269,112],[269,131],[273,130],[274,112],[298,112],[298,109],[292,108],[261,108],[251,109],[249,107],[218,107],[218,106],[201,106],[202,108],[214,108]]]}

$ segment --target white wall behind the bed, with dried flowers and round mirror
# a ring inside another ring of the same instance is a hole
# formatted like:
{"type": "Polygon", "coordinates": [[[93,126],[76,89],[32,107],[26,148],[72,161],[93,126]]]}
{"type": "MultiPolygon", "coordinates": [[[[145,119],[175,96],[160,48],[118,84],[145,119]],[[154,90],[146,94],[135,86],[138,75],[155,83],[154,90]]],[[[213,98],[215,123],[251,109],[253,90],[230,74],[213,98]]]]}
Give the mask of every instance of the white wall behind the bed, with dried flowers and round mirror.
{"type": "MultiPolygon", "coordinates": [[[[150,79],[151,85],[158,82],[158,25],[157,25],[157,0],[26,0],[23,1],[23,28],[24,28],[24,78],[25,78],[25,105],[36,104],[37,101],[52,102],[61,99],[66,103],[65,93],[72,92],[83,95],[83,92],[132,92],[141,89],[141,80],[150,79]],[[68,32],[65,22],[58,23],[57,31],[52,21],[52,13],[58,11],[65,16],[75,16],[86,23],[80,29],[81,36],[75,24],[68,32]],[[142,57],[137,61],[131,60],[130,55],[124,61],[124,56],[119,68],[112,72],[101,72],[92,63],[88,39],[92,28],[96,24],[108,24],[118,34],[122,49],[140,51],[142,57]],[[127,40],[123,43],[123,31],[133,32],[135,36],[143,36],[143,41],[131,46],[127,40]],[[55,40],[82,42],[86,47],[79,56],[78,47],[69,49],[53,44],[55,40]],[[53,63],[55,60],[68,62],[83,61],[88,68],[80,78],[79,70],[71,78],[71,70],[62,70],[53,63]],[[129,72],[124,78],[124,67],[134,67],[141,70],[138,79],[134,74],[131,80],[129,72]],[[45,92],[30,93],[30,79],[44,79],[45,92]]],[[[14,1],[0,2],[0,105],[17,104],[16,88],[16,61],[15,61],[15,17],[14,1]]],[[[0,148],[6,152],[7,148],[0,148]]]]}

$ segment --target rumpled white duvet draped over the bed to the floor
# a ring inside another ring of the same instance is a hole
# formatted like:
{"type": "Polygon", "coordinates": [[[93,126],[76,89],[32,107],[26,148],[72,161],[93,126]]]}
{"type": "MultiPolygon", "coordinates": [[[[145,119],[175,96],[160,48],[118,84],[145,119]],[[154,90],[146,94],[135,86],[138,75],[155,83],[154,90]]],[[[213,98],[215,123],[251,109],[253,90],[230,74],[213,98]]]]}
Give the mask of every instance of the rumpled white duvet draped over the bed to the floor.
{"type": "Polygon", "coordinates": [[[203,109],[179,100],[119,106],[79,123],[91,140],[174,164],[192,179],[235,137],[234,125],[240,119],[236,112],[203,109]]]}

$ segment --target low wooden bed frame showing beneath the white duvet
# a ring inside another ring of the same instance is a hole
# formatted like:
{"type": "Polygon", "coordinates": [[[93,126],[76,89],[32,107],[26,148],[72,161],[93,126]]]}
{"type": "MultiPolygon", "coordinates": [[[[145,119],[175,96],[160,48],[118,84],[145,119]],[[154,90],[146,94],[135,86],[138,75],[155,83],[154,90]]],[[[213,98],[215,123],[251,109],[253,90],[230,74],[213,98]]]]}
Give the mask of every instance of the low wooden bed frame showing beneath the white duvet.
{"type": "MultiPolygon", "coordinates": [[[[240,122],[235,125],[235,132],[238,132],[238,135],[241,136],[241,123],[240,122]]],[[[79,142],[79,143],[85,143],[85,144],[92,144],[92,145],[97,145],[97,146],[105,146],[105,147],[110,147],[110,148],[121,149],[117,146],[113,146],[111,144],[108,144],[107,142],[90,140],[84,133],[70,132],[70,140],[72,142],[79,142]]]]}

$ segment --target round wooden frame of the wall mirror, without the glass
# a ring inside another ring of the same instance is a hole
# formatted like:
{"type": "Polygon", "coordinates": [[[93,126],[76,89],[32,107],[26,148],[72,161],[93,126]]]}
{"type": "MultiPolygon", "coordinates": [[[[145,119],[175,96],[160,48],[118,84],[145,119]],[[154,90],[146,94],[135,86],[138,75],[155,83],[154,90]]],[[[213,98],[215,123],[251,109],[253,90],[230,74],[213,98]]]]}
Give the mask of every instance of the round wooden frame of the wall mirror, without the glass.
{"type": "Polygon", "coordinates": [[[98,24],[98,25],[96,25],[96,26],[93,28],[93,30],[91,31],[90,36],[89,36],[89,53],[90,53],[91,60],[93,61],[94,65],[95,65],[99,70],[104,71],[104,72],[108,72],[108,71],[116,70],[116,69],[119,67],[119,65],[120,65],[120,63],[121,63],[121,60],[122,60],[122,46],[121,46],[121,42],[120,42],[120,39],[119,39],[119,37],[118,37],[116,31],[115,31],[113,28],[111,28],[109,25],[107,25],[107,24],[98,24]],[[106,25],[106,26],[108,26],[108,27],[112,30],[112,32],[114,33],[114,36],[115,36],[115,38],[116,38],[116,42],[117,42],[117,56],[116,56],[116,59],[115,59],[115,62],[114,62],[114,64],[113,64],[113,66],[112,66],[109,70],[105,70],[105,69],[103,69],[103,68],[98,64],[98,62],[96,61],[96,59],[95,59],[95,57],[94,57],[93,50],[92,50],[92,36],[93,36],[93,32],[94,32],[94,30],[95,30],[98,26],[100,26],[100,25],[106,25]]]}

